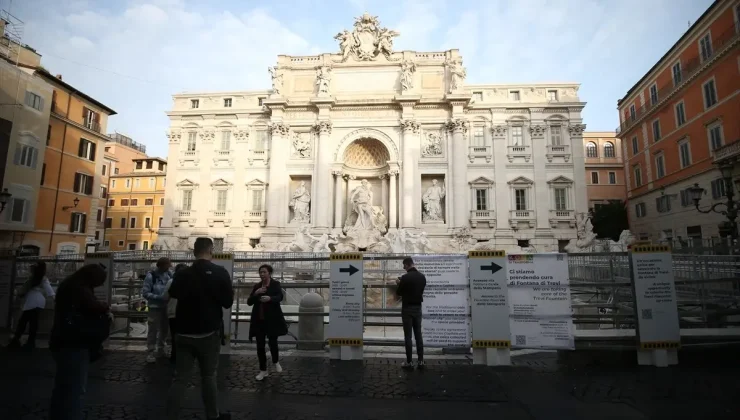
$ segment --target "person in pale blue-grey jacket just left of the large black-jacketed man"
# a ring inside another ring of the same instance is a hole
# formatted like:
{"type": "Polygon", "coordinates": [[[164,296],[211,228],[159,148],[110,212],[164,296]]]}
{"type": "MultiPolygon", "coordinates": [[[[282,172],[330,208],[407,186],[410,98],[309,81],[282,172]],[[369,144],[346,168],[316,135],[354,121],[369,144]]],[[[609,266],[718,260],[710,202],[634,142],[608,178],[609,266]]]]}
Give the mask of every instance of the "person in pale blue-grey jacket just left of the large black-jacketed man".
{"type": "Polygon", "coordinates": [[[149,306],[146,334],[147,363],[154,363],[157,361],[157,357],[164,357],[165,355],[165,344],[169,330],[165,291],[167,283],[172,278],[170,267],[172,267],[172,263],[169,258],[162,257],[157,260],[157,267],[144,277],[144,287],[141,289],[141,295],[146,299],[149,306]]]}

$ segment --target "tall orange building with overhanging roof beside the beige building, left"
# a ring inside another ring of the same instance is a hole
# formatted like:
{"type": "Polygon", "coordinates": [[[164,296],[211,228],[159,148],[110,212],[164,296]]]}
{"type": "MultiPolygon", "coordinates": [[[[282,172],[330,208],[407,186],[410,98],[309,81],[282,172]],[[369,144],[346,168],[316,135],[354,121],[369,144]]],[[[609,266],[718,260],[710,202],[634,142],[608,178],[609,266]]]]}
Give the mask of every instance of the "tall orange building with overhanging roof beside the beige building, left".
{"type": "Polygon", "coordinates": [[[35,230],[25,244],[41,255],[84,253],[94,246],[96,214],[105,206],[101,177],[105,128],[116,112],[43,69],[53,88],[35,230]]]}

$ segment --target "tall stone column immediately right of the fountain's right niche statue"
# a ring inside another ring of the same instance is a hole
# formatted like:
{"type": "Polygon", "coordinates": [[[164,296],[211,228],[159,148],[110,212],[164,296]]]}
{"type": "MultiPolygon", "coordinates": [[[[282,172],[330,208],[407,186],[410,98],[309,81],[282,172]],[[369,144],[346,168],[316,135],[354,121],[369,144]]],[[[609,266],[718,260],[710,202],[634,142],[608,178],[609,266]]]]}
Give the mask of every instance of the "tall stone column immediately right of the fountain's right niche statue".
{"type": "Polygon", "coordinates": [[[447,224],[453,228],[461,228],[468,226],[469,219],[468,147],[465,140],[468,122],[460,118],[454,119],[447,123],[447,130],[452,132],[452,182],[445,180],[445,185],[452,185],[452,192],[447,190],[447,200],[452,200],[452,223],[448,218],[447,224]]]}

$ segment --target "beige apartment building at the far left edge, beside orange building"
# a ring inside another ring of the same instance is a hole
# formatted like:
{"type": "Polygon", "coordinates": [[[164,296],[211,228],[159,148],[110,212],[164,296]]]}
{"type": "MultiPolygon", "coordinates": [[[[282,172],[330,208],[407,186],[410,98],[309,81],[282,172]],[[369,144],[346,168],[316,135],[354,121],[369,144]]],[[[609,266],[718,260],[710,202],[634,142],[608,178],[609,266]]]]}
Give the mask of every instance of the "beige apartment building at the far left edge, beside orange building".
{"type": "Polygon", "coordinates": [[[38,254],[24,239],[39,208],[53,89],[34,72],[41,56],[11,29],[0,19],[0,249],[38,254]]]}

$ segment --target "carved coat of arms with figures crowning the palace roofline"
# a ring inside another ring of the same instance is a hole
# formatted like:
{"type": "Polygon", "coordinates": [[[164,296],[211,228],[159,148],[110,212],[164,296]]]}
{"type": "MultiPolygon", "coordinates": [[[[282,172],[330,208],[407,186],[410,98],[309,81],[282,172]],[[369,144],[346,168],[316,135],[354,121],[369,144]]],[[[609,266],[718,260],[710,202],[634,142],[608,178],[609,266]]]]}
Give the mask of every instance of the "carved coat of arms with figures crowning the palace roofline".
{"type": "Polygon", "coordinates": [[[355,18],[352,32],[344,30],[338,33],[334,39],[339,41],[339,49],[342,54],[342,62],[354,56],[360,61],[375,60],[383,54],[390,61],[393,54],[393,38],[400,33],[388,28],[380,27],[377,16],[368,13],[355,18]]]}

